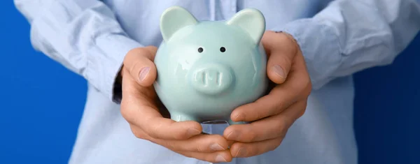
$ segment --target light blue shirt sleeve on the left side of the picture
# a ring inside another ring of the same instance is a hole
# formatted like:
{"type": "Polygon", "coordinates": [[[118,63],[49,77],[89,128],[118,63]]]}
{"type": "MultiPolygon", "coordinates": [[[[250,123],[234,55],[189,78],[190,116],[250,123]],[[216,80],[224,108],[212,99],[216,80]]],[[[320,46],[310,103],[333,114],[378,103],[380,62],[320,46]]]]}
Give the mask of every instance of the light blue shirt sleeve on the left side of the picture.
{"type": "Polygon", "coordinates": [[[98,0],[15,0],[31,24],[31,44],[85,77],[118,103],[113,89],[125,54],[142,47],[127,36],[113,11],[98,0]]]}

